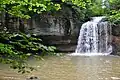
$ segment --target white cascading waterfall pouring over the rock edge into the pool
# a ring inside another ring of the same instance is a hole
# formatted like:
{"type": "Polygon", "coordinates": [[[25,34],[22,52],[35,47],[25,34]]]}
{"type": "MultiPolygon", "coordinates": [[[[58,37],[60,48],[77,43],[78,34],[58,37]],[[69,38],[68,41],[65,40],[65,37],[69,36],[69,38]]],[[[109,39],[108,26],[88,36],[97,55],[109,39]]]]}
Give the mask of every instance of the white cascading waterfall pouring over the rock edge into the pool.
{"type": "Polygon", "coordinates": [[[80,29],[75,55],[108,55],[112,52],[111,26],[104,17],[93,17],[80,29]]]}

